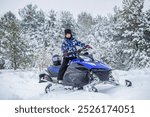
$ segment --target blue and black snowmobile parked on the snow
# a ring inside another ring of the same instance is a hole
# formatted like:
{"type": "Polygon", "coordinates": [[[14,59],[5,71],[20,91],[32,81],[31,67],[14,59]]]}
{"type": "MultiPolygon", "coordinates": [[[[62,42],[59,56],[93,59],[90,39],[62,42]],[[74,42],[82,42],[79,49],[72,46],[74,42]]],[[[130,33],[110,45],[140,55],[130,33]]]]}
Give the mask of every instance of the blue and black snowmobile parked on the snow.
{"type": "MultiPolygon", "coordinates": [[[[68,89],[83,89],[89,92],[97,92],[95,87],[98,84],[119,85],[119,81],[112,76],[112,69],[101,61],[94,60],[93,56],[88,53],[87,48],[76,51],[77,58],[70,61],[68,68],[63,77],[63,86],[68,86],[68,89]]],[[[68,53],[73,54],[73,53],[68,53]]],[[[57,76],[61,66],[61,57],[54,55],[53,65],[46,70],[48,74],[39,75],[39,83],[50,82],[45,92],[48,93],[53,84],[57,84],[57,76]]],[[[126,86],[132,86],[132,82],[125,80],[126,86]]],[[[66,88],[65,88],[66,89],[66,88]]]]}

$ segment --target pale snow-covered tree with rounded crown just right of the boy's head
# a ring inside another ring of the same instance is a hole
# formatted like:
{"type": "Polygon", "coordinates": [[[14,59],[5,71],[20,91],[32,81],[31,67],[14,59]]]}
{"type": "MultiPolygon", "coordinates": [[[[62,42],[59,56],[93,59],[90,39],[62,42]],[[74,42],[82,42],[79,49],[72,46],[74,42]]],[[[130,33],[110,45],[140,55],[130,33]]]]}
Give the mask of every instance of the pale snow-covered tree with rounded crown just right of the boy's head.
{"type": "MultiPolygon", "coordinates": [[[[77,17],[77,23],[76,23],[76,33],[78,40],[84,42],[85,44],[90,44],[91,46],[95,46],[94,42],[96,42],[94,37],[94,18],[90,13],[82,12],[77,17]]],[[[92,49],[92,53],[95,55],[95,50],[92,49]]]]}

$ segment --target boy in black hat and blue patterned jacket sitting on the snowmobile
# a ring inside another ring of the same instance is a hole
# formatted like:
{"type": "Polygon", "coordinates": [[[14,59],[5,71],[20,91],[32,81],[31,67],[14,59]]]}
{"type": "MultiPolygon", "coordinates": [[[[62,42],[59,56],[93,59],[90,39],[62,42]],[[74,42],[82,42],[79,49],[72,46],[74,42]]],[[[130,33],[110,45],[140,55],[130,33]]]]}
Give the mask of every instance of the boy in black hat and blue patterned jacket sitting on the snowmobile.
{"type": "Polygon", "coordinates": [[[59,84],[62,83],[63,76],[65,71],[67,70],[69,61],[77,58],[76,46],[80,46],[82,48],[91,48],[89,45],[85,45],[84,43],[81,43],[80,41],[76,40],[72,36],[72,32],[70,29],[65,29],[65,38],[61,46],[61,50],[63,52],[64,57],[57,78],[59,84]],[[70,52],[72,54],[68,54],[70,52]]]}

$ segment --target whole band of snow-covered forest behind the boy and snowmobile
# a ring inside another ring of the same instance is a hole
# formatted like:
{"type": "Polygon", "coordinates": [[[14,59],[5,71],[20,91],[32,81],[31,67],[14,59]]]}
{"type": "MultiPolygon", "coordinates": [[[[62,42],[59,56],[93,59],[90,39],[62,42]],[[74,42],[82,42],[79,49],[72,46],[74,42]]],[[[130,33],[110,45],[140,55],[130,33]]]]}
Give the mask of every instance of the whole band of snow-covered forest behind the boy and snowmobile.
{"type": "Polygon", "coordinates": [[[114,14],[81,12],[77,18],[69,11],[45,13],[29,4],[0,17],[0,69],[45,68],[54,54],[62,54],[64,29],[93,47],[94,58],[113,69],[129,70],[150,66],[150,9],[144,0],[123,0],[114,14]]]}

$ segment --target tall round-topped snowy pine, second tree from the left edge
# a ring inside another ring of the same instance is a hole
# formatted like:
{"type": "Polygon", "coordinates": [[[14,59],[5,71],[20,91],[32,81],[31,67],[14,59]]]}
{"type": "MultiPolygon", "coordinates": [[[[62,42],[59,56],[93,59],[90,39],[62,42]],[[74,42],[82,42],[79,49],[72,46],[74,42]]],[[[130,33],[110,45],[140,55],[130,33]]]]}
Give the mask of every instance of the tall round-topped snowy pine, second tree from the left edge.
{"type": "Polygon", "coordinates": [[[43,66],[43,53],[47,45],[47,24],[45,14],[42,10],[38,10],[36,5],[29,4],[19,10],[21,16],[21,26],[24,32],[24,37],[30,46],[30,55],[32,67],[43,66]],[[42,53],[42,54],[41,54],[42,53]]]}

